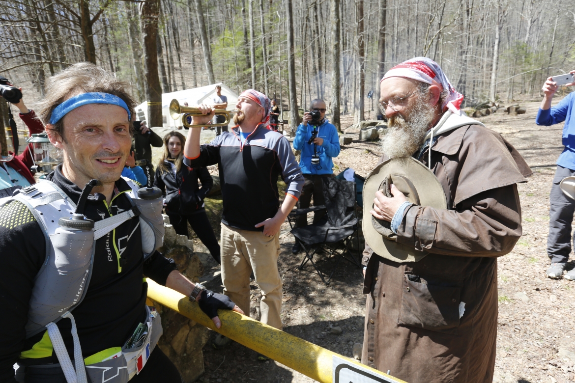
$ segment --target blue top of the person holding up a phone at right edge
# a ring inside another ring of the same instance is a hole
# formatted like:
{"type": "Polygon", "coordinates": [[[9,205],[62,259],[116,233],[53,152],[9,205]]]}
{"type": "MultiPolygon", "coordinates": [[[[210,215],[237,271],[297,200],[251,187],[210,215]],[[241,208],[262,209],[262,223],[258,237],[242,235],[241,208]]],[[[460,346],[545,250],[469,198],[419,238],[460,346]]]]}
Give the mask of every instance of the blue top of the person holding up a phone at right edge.
{"type": "Polygon", "coordinates": [[[557,165],[575,170],[575,92],[565,96],[559,103],[547,110],[539,109],[535,123],[550,126],[565,121],[563,145],[565,149],[557,159],[557,165]]]}

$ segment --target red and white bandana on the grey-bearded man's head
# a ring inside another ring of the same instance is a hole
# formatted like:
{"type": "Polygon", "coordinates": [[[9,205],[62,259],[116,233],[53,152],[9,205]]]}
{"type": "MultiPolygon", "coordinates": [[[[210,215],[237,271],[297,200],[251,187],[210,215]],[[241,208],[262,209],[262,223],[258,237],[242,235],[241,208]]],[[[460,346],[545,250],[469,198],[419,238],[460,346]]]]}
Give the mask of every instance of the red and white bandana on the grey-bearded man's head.
{"type": "Polygon", "coordinates": [[[448,94],[441,105],[442,109],[451,110],[453,113],[459,113],[463,95],[455,91],[441,67],[434,60],[427,57],[415,57],[415,59],[404,61],[389,69],[381,81],[390,77],[402,77],[413,79],[425,84],[434,84],[446,89],[448,94]]]}

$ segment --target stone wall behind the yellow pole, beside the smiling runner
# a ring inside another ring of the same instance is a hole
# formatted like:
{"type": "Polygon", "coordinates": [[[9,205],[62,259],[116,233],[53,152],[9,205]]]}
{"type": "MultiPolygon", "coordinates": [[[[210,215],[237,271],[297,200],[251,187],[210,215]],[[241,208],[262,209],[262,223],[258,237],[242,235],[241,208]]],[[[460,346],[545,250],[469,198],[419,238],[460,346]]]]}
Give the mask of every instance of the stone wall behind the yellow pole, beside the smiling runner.
{"type": "MultiPolygon", "coordinates": [[[[200,281],[204,266],[194,253],[194,242],[185,235],[176,234],[167,216],[164,216],[164,227],[166,235],[160,253],[173,258],[178,270],[190,280],[200,281]]],[[[164,330],[158,346],[174,362],[184,383],[196,381],[204,374],[202,347],[208,342],[208,328],[158,303],[155,306],[162,316],[164,330]]]]}

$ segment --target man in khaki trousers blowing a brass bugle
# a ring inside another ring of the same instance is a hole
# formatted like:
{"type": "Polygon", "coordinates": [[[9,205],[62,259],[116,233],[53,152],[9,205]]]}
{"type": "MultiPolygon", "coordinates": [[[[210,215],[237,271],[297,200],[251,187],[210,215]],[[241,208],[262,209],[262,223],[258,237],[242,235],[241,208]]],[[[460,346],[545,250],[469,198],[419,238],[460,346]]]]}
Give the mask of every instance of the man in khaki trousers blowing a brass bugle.
{"type": "MultiPolygon", "coordinates": [[[[212,107],[200,105],[204,116],[194,125],[213,117],[212,107]]],[[[281,329],[282,280],[279,276],[279,229],[295,206],[304,176],[289,141],[268,130],[271,103],[266,95],[249,89],[237,99],[237,124],[208,145],[200,146],[200,129],[192,128],[184,148],[188,167],[218,164],[223,211],[221,214],[221,280],[224,294],[250,312],[250,274],[262,289],[261,321],[281,329]],[[279,203],[277,181],[287,184],[279,203]]],[[[249,314],[248,314],[249,315],[249,314]]],[[[216,346],[227,339],[216,338],[216,346]]],[[[259,359],[267,359],[259,355],[259,359]]]]}

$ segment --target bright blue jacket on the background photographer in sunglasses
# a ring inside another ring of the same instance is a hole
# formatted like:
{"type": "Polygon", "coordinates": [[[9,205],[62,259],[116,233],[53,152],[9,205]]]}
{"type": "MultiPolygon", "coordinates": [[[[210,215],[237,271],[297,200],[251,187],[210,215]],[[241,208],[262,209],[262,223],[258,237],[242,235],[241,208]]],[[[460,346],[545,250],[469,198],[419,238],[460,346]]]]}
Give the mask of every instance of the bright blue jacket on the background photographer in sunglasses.
{"type": "Polygon", "coordinates": [[[333,174],[333,157],[339,156],[339,136],[338,129],[329,123],[325,118],[324,123],[317,127],[317,137],[323,138],[320,145],[310,145],[308,141],[312,138],[313,127],[300,123],[297,127],[296,138],[293,140],[293,148],[301,150],[300,168],[304,174],[333,174]],[[316,153],[320,156],[320,163],[312,165],[313,146],[316,146],[316,153]]]}

